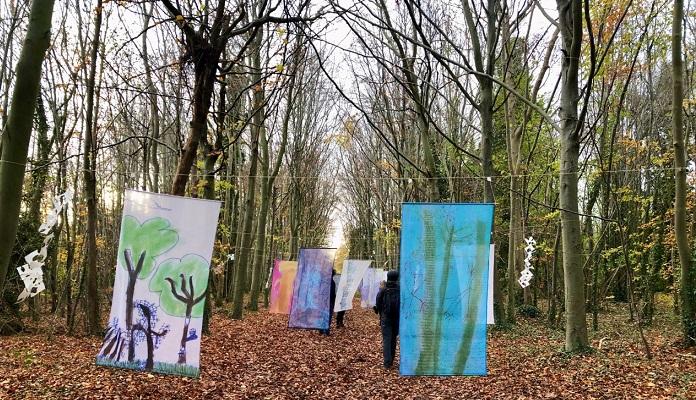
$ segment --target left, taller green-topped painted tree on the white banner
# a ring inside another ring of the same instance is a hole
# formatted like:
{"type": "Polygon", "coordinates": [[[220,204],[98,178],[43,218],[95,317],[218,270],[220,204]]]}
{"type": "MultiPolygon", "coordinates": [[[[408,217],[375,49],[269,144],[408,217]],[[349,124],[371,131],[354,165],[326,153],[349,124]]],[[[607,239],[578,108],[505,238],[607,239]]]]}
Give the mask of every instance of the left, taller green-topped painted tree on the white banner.
{"type": "Polygon", "coordinates": [[[128,361],[135,359],[133,340],[133,294],[138,279],[152,273],[155,259],[171,250],[179,241],[179,235],[167,219],[152,218],[142,224],[130,215],[123,217],[118,264],[128,272],[126,288],[126,330],[128,332],[128,361]],[[137,261],[136,261],[137,260],[137,261]],[[135,262],[134,262],[135,261],[135,262]]]}

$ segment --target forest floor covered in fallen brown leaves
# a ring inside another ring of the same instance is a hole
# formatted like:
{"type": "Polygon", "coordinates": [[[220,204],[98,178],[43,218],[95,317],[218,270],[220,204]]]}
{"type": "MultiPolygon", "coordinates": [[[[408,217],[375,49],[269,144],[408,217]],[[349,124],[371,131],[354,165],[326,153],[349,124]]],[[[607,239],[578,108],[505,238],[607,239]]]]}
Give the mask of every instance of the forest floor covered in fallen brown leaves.
{"type": "Polygon", "coordinates": [[[100,338],[0,337],[0,398],[696,399],[696,351],[676,345],[671,311],[646,328],[652,360],[623,306],[600,314],[600,330],[590,333],[594,351],[574,356],[561,351],[562,330],[520,319],[489,332],[486,377],[384,370],[371,310],[349,311],[346,327],[329,337],[288,329],[286,316],[265,311],[243,321],[218,315],[211,331],[203,337],[199,379],[98,367],[100,338]]]}

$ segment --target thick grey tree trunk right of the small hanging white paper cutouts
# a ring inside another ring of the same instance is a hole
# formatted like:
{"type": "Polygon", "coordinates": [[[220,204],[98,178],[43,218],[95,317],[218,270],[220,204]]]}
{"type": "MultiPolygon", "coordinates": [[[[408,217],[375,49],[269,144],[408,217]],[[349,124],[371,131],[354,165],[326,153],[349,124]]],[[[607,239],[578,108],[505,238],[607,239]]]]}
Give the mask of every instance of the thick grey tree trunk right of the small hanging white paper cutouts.
{"type": "Polygon", "coordinates": [[[565,283],[567,351],[589,345],[585,320],[585,276],[582,269],[582,241],[578,216],[578,73],[582,45],[582,1],[556,0],[561,30],[561,236],[563,239],[563,281],[565,283]]]}

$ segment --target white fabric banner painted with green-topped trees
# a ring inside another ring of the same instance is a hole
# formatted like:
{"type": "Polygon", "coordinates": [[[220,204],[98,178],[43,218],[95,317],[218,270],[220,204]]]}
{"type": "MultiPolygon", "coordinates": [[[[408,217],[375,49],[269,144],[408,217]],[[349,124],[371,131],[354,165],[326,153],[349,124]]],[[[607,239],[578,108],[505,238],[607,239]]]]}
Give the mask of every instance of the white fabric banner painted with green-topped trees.
{"type": "Polygon", "coordinates": [[[126,191],[98,365],[199,376],[219,211],[217,201],[126,191]]]}

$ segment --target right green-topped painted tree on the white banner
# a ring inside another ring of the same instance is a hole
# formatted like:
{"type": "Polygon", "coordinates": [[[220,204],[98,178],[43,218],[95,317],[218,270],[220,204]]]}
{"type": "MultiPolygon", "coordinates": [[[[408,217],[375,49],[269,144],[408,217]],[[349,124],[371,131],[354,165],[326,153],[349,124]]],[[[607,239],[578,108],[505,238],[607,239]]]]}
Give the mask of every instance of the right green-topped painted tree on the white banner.
{"type": "Polygon", "coordinates": [[[184,317],[179,364],[186,364],[186,343],[198,338],[194,329],[189,332],[189,323],[191,317],[203,317],[208,267],[203,257],[188,254],[181,259],[164,261],[150,280],[150,290],[160,292],[162,310],[175,317],[184,317]]]}

